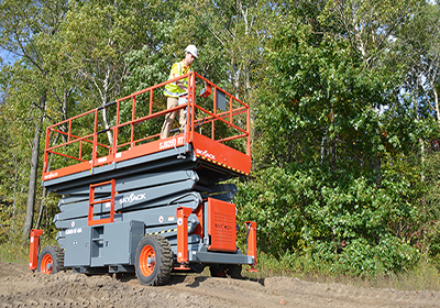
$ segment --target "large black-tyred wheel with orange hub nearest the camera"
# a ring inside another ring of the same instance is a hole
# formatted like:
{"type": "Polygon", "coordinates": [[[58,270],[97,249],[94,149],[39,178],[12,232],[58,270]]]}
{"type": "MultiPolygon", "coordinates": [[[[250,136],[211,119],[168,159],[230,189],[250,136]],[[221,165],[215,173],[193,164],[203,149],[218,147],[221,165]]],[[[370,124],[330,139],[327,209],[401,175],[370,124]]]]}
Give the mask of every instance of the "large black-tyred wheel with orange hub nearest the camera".
{"type": "Polygon", "coordinates": [[[161,235],[147,235],[136,249],[136,276],[146,286],[163,285],[173,270],[173,252],[168,241],[161,235]]]}

